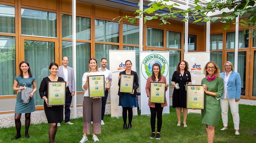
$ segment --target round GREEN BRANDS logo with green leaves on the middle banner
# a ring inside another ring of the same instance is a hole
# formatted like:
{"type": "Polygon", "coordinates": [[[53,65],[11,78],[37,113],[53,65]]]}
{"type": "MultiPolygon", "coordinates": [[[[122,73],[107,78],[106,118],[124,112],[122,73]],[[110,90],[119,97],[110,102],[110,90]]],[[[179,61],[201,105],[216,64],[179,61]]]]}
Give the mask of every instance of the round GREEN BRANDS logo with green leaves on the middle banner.
{"type": "Polygon", "coordinates": [[[154,63],[158,63],[160,65],[160,71],[163,76],[166,77],[169,72],[167,60],[163,56],[159,54],[150,54],[143,59],[141,64],[141,72],[146,80],[153,73],[154,63]]]}

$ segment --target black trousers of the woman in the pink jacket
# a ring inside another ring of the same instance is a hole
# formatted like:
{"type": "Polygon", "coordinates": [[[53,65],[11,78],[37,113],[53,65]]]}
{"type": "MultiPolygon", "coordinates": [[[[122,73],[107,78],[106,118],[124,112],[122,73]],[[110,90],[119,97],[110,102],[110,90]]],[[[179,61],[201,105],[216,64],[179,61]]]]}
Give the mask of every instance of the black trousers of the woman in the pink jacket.
{"type": "Polygon", "coordinates": [[[163,113],[163,107],[160,103],[155,103],[155,108],[150,107],[151,112],[151,118],[150,118],[150,124],[151,124],[151,131],[155,132],[155,117],[157,117],[157,131],[161,131],[162,127],[162,113],[163,113]]]}

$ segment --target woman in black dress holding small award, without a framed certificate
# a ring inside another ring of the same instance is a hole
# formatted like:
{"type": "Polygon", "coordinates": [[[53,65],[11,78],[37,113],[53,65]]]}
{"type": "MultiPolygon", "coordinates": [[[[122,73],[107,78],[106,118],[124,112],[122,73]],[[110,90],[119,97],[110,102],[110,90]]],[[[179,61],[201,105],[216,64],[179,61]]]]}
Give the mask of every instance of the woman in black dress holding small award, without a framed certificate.
{"type": "Polygon", "coordinates": [[[181,108],[183,108],[183,126],[187,127],[186,119],[188,114],[186,84],[191,84],[191,75],[188,71],[188,63],[181,60],[178,63],[177,70],[173,73],[172,85],[173,90],[173,108],[176,108],[178,118],[177,126],[181,126],[181,108]],[[176,85],[178,83],[178,86],[176,85]]]}

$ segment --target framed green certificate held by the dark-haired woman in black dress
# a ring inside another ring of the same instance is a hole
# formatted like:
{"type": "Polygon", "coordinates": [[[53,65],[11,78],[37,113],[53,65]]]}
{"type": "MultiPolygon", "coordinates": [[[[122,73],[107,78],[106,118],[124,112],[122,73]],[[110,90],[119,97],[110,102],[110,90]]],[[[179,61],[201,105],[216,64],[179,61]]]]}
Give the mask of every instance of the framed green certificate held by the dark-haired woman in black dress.
{"type": "Polygon", "coordinates": [[[48,82],[48,105],[57,106],[66,103],[66,82],[48,82]]]}

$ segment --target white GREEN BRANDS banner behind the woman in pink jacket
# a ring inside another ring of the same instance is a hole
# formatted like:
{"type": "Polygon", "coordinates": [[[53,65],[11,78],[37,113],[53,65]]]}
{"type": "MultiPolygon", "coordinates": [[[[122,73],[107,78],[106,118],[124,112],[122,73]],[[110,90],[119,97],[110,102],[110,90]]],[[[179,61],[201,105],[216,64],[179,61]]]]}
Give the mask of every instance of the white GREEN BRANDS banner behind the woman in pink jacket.
{"type": "MultiPolygon", "coordinates": [[[[152,75],[152,65],[154,63],[159,63],[161,73],[163,76],[166,77],[166,83],[169,83],[169,52],[140,51],[141,115],[150,114],[150,109],[148,106],[148,97],[146,94],[145,87],[148,77],[152,75]]],[[[163,113],[170,113],[169,88],[165,92],[165,97],[168,106],[164,107],[163,113]]]]}

